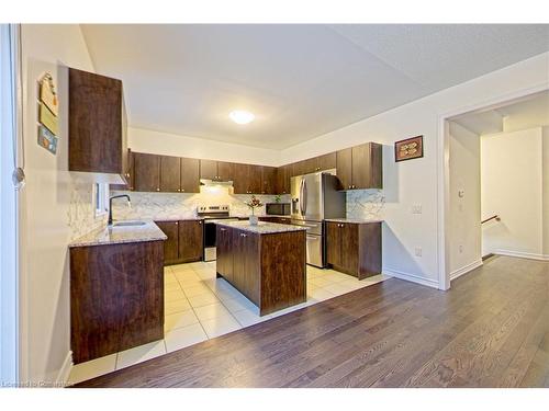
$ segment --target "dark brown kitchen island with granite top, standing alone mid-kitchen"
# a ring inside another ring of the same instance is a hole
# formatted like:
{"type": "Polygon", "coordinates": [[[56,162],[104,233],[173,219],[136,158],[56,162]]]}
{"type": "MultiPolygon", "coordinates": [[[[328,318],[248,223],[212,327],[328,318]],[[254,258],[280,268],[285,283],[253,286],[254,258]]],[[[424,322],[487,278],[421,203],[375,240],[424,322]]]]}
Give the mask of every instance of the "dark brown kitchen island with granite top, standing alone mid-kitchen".
{"type": "Polygon", "coordinates": [[[305,236],[300,226],[217,222],[217,276],[254,302],[260,316],[304,302],[305,236]]]}

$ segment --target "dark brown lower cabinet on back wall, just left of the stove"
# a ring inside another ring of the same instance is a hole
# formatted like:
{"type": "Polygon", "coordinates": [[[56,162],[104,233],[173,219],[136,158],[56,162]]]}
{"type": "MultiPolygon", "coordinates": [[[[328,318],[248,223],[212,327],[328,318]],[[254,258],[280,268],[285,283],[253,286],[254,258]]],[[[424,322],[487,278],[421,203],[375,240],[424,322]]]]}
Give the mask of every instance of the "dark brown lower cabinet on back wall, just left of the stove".
{"type": "Polygon", "coordinates": [[[164,242],[165,265],[202,260],[204,249],[202,220],[155,222],[168,237],[164,242]]]}

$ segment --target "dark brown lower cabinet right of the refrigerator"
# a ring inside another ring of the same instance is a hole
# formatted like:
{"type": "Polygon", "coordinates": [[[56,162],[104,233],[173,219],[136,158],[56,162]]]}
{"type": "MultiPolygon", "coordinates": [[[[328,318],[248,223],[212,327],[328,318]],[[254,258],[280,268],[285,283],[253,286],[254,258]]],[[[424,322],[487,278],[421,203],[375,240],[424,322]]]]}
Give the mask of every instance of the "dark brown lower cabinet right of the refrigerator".
{"type": "Polygon", "coordinates": [[[358,279],[381,273],[381,222],[326,222],[326,259],[358,279]]]}

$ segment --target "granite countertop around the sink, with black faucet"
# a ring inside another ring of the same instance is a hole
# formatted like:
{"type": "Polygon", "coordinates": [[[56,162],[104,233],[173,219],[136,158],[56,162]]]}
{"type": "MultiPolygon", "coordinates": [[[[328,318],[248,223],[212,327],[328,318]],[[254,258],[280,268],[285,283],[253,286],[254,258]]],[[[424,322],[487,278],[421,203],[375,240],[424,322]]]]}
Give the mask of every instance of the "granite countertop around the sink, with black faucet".
{"type": "Polygon", "coordinates": [[[114,226],[91,231],[70,242],[69,248],[158,241],[168,238],[153,221],[143,222],[145,222],[143,226],[114,226]]]}

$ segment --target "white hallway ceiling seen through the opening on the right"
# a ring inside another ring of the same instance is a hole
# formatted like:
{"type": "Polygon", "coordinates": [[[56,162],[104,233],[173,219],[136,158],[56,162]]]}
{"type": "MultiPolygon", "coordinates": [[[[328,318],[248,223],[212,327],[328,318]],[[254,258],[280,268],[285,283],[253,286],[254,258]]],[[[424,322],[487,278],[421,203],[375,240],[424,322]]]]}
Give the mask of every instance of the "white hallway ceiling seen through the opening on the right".
{"type": "Polygon", "coordinates": [[[474,134],[485,135],[549,126],[549,92],[540,92],[489,110],[451,119],[474,134]]]}

